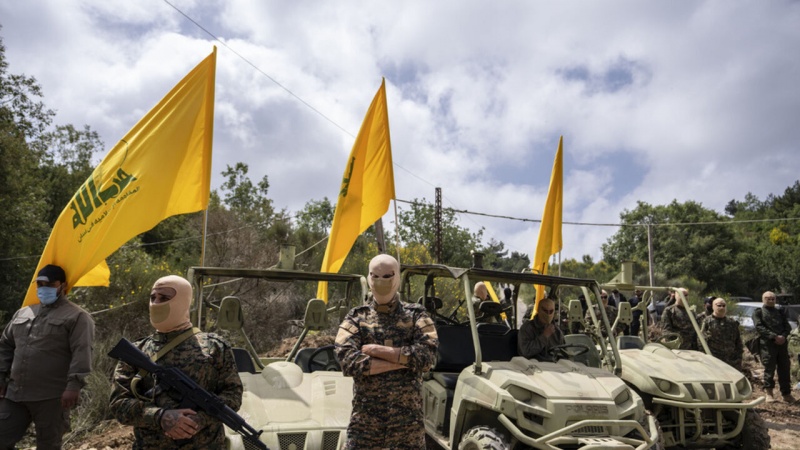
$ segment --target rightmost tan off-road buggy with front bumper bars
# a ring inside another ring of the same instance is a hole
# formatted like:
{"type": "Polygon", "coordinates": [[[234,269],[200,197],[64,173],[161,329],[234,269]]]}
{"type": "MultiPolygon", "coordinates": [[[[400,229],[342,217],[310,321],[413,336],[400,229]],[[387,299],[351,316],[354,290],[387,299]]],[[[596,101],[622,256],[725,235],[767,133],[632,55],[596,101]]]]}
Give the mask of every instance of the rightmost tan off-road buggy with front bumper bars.
{"type": "MultiPolygon", "coordinates": [[[[642,312],[639,336],[619,336],[620,376],[643,399],[661,425],[668,447],[687,448],[769,448],[770,439],[764,421],[754,410],[765,398],[753,398],[747,378],[738,370],[711,355],[690,315],[702,351],[679,350],[679,336],[665,335],[659,342],[647,342],[647,314],[656,293],[680,289],[635,286],[632,265],[603,288],[620,291],[644,291],[644,301],[635,309],[642,312]]],[[[684,304],[689,305],[686,298],[684,304]]],[[[618,320],[630,323],[630,304],[622,303],[618,320]]]]}

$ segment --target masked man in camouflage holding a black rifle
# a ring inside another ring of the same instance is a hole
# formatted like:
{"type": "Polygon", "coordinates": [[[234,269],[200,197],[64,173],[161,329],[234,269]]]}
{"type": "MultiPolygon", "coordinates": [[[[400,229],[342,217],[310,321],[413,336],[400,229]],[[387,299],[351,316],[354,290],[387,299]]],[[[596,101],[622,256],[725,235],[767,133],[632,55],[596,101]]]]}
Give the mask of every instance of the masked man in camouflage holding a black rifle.
{"type": "MultiPolygon", "coordinates": [[[[159,278],[150,291],[150,323],[156,332],[134,345],[157,364],[180,369],[236,411],[242,404],[242,381],[231,347],[220,336],[192,327],[191,303],[188,280],[159,278]]],[[[224,448],[222,422],[181,408],[180,399],[157,386],[149,373],[121,361],[114,370],[110,409],[120,423],[133,426],[135,450],[224,448]]]]}

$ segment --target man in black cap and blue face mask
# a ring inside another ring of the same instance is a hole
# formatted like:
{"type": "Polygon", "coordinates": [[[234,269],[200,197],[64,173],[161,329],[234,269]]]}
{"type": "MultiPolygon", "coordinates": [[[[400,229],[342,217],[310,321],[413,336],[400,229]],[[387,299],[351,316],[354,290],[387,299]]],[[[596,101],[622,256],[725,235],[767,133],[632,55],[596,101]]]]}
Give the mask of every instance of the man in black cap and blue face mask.
{"type": "Polygon", "coordinates": [[[70,410],[92,370],[94,321],[67,300],[56,265],[36,276],[39,304],[20,309],[0,337],[0,449],[13,449],[31,422],[36,448],[60,449],[70,410]]]}

